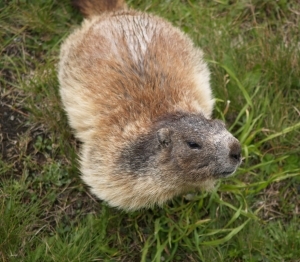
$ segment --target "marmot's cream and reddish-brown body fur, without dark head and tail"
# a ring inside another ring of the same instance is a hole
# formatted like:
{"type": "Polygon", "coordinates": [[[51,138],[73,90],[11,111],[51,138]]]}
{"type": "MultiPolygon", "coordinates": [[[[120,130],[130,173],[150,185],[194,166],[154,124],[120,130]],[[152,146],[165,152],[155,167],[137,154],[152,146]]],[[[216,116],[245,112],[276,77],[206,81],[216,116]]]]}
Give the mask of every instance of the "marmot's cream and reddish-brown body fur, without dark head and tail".
{"type": "Polygon", "coordinates": [[[197,185],[178,186],[176,179],[162,182],[163,167],[136,177],[116,163],[118,153],[166,113],[211,117],[214,99],[203,53],[169,22],[133,10],[92,16],[62,44],[58,77],[70,125],[83,142],[82,179],[100,199],[134,210],[161,205],[191,188],[212,187],[209,176],[197,185]],[[162,68],[144,63],[154,56],[162,68]],[[165,75],[158,75],[158,87],[150,92],[129,64],[165,75]]]}

